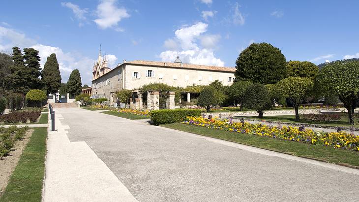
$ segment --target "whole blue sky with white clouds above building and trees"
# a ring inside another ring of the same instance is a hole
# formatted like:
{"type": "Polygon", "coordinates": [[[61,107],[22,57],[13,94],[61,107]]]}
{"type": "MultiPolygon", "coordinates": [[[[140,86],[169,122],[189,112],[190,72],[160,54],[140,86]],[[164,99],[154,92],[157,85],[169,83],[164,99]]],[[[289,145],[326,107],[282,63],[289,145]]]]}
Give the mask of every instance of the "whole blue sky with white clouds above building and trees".
{"type": "Polygon", "coordinates": [[[0,50],[56,53],[62,81],[78,68],[90,84],[99,45],[110,66],[123,59],[234,67],[252,42],[286,59],[359,58],[358,0],[36,0],[4,1],[0,50]]]}

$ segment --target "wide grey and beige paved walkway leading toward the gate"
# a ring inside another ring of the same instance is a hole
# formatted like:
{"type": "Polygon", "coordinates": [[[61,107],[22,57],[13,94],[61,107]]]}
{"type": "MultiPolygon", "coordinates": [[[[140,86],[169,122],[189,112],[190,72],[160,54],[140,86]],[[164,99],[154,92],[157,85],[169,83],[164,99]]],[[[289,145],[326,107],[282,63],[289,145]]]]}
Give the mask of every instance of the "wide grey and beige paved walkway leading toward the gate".
{"type": "Polygon", "coordinates": [[[101,200],[104,195],[155,202],[359,198],[358,169],[80,108],[55,111],[63,128],[49,134],[45,201],[111,201],[101,200]]]}

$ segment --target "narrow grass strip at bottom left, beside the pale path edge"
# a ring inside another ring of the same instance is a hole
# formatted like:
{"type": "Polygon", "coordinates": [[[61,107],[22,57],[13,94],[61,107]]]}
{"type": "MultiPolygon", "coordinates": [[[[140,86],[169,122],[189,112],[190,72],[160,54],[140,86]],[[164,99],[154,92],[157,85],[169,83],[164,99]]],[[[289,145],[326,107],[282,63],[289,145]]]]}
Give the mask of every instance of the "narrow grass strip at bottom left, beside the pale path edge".
{"type": "Polygon", "coordinates": [[[34,128],[0,202],[41,201],[47,128],[34,128]]]}

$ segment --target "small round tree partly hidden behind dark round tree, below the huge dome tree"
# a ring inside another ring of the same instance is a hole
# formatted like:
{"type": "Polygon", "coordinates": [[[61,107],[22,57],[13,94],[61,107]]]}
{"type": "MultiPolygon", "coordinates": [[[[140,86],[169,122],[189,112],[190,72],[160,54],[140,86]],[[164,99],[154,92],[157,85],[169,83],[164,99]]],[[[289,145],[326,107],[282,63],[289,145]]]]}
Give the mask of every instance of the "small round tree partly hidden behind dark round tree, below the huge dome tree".
{"type": "Polygon", "coordinates": [[[233,99],[236,104],[240,104],[240,110],[243,110],[243,105],[246,98],[245,90],[251,84],[252,82],[250,81],[237,81],[227,89],[228,96],[233,99]]]}

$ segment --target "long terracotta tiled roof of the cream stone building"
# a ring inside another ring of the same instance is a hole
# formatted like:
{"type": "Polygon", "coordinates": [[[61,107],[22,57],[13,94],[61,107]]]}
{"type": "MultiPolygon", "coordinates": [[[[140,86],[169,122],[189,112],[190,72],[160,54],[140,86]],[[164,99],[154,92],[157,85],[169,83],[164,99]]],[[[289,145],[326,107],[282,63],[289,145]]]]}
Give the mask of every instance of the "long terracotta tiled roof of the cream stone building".
{"type": "Polygon", "coordinates": [[[166,62],[157,62],[157,61],[144,61],[144,60],[134,60],[126,62],[126,65],[141,65],[141,66],[155,66],[155,67],[169,67],[169,68],[187,68],[187,69],[200,69],[200,70],[209,70],[209,71],[226,71],[226,72],[235,72],[236,68],[234,67],[216,67],[216,66],[207,66],[207,65],[192,65],[187,63],[166,63],[166,62]]]}

